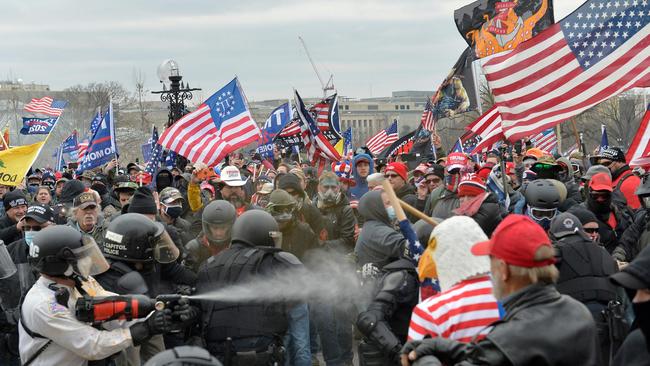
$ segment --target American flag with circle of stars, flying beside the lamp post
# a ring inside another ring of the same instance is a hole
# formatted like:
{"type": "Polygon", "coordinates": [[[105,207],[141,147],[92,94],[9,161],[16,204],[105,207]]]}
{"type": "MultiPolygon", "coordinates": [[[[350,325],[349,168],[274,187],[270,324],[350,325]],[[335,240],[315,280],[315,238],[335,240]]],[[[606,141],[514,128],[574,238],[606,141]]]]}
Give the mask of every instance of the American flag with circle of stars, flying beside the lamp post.
{"type": "Polygon", "coordinates": [[[160,136],[160,145],[208,166],[260,136],[237,78],[217,91],[197,110],[186,114],[160,136]]]}

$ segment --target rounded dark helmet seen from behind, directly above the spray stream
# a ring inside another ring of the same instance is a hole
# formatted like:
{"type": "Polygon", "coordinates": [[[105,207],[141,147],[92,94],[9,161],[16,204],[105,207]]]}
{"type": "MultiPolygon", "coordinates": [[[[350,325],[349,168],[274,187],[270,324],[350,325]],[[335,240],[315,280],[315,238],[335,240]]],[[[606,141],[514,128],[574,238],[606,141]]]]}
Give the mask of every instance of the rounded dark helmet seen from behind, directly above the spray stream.
{"type": "Polygon", "coordinates": [[[232,243],[279,248],[282,233],[271,214],[262,210],[250,210],[235,221],[232,227],[232,243]]]}

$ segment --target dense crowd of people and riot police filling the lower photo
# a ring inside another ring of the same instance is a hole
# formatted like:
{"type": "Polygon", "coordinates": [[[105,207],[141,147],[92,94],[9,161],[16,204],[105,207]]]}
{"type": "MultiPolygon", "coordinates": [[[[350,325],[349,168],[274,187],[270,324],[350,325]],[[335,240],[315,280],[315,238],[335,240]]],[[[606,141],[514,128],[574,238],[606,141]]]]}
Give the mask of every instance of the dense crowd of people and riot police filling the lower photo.
{"type": "Polygon", "coordinates": [[[32,168],[0,185],[0,364],[650,365],[644,170],[504,151],[32,168]],[[202,297],[319,255],[365,298],[202,297]]]}

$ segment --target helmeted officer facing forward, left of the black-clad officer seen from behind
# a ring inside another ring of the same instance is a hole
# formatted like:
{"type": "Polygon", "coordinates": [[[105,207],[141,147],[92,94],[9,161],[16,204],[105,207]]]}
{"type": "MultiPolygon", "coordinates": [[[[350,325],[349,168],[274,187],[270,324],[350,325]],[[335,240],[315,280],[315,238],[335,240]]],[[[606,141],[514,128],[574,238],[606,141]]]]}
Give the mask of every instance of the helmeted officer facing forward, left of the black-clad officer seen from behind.
{"type": "Polygon", "coordinates": [[[198,272],[209,257],[228,247],[236,218],[235,207],[228,201],[216,200],[205,206],[201,215],[203,230],[185,246],[183,264],[198,272]]]}

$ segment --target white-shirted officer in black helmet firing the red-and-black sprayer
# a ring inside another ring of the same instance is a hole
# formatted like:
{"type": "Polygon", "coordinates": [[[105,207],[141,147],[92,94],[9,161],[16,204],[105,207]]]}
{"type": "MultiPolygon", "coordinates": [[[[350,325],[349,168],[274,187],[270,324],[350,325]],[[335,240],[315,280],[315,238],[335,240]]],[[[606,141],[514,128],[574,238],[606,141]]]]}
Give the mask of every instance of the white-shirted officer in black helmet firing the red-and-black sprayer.
{"type": "Polygon", "coordinates": [[[94,239],[66,226],[39,231],[30,263],[41,274],[25,296],[19,324],[24,365],[87,365],[139,345],[172,325],[170,310],[155,311],[130,326],[112,323],[100,330],[74,317],[81,296],[109,296],[93,275],[108,269],[94,239]],[[71,311],[72,310],[72,311],[71,311]]]}

